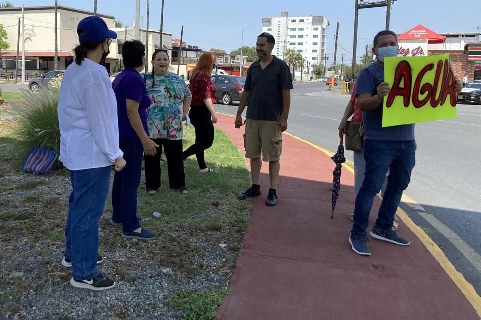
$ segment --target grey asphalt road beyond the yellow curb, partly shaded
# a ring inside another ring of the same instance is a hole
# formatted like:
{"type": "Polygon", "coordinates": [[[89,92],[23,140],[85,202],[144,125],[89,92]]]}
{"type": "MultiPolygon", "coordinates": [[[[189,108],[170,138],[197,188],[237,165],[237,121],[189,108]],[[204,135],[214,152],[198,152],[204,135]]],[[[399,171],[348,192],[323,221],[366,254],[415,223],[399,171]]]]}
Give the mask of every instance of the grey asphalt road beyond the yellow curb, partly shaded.
{"type": "MultiPolygon", "coordinates": [[[[349,98],[326,89],[294,84],[287,131],[336,152],[349,98]]],[[[216,109],[234,115],[237,105],[216,109]]],[[[481,295],[481,106],[457,109],[456,119],[416,125],[416,167],[405,193],[426,212],[402,207],[481,295]]],[[[352,160],[352,152],[345,155],[352,160]]]]}

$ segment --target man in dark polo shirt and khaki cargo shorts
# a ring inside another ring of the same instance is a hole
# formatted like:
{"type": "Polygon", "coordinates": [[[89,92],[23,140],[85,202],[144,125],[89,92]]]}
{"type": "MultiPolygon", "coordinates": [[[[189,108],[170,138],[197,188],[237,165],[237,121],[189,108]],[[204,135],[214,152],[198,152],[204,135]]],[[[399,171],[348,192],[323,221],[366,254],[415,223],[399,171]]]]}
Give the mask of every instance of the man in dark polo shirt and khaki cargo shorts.
{"type": "Polygon", "coordinates": [[[276,185],[279,177],[279,157],[281,156],[282,134],[287,129],[287,117],[291,104],[292,79],[287,64],[271,54],[274,37],[261,33],[257,37],[256,52],[259,60],[247,70],[244,92],[240,97],[235,127],[243,125],[242,112],[249,100],[246,114],[244,148],[246,157],[251,159],[252,186],[239,199],[261,195],[261,154],[262,160],[269,162],[271,186],[266,205],[277,204],[276,185]]]}

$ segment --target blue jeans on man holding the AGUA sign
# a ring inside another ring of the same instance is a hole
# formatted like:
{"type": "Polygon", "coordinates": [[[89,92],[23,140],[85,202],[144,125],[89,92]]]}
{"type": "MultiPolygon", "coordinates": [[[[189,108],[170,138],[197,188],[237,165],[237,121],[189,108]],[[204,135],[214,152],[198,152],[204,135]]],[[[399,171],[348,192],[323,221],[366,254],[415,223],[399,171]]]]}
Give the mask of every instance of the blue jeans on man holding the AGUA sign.
{"type": "Polygon", "coordinates": [[[352,234],[366,234],[372,202],[381,189],[388,170],[386,191],[376,226],[381,229],[392,227],[402,192],[409,185],[411,172],[416,164],[415,141],[366,140],[364,159],[366,173],[356,196],[352,234]]]}

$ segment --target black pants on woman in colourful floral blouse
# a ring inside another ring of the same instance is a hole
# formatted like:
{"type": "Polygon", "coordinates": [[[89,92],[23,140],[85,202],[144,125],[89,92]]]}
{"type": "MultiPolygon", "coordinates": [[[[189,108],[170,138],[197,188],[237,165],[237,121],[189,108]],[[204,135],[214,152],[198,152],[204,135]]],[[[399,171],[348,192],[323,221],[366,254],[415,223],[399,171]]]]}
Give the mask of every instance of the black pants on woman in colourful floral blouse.
{"type": "Polygon", "coordinates": [[[169,172],[169,186],[171,189],[182,190],[185,188],[184,161],[182,159],[182,140],[152,139],[159,145],[157,154],[145,155],[145,187],[147,191],[157,190],[160,187],[160,156],[162,148],[167,157],[167,170],[169,172]]]}

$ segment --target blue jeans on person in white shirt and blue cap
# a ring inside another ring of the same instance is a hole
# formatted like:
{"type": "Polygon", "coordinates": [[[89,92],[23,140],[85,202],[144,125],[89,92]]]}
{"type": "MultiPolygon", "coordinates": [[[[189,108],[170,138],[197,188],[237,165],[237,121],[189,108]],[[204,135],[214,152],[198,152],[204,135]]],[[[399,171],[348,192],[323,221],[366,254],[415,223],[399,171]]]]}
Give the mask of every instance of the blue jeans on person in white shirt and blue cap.
{"type": "Polygon", "coordinates": [[[104,212],[109,191],[111,166],[70,170],[72,192],[65,226],[65,258],[72,260],[76,280],[91,279],[99,274],[98,222],[104,212]]]}

